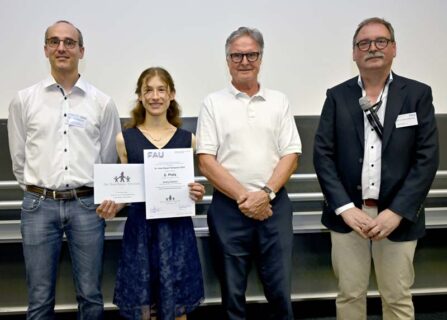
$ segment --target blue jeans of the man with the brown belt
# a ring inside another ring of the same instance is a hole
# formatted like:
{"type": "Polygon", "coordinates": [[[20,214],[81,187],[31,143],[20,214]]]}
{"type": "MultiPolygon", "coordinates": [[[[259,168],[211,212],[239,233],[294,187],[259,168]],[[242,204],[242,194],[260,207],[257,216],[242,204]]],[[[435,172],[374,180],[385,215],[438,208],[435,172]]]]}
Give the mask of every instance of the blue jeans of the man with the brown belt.
{"type": "Polygon", "coordinates": [[[78,301],[78,319],[102,319],[105,222],[93,196],[52,200],[25,192],[21,231],[28,286],[27,319],[53,319],[57,266],[67,237],[78,301]]]}

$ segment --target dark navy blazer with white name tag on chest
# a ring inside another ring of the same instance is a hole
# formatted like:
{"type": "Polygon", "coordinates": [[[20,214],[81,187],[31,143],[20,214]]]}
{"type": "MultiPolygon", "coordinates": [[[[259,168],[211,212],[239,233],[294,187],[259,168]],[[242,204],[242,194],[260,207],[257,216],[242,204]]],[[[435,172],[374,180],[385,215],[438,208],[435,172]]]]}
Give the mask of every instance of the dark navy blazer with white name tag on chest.
{"type": "MultiPolygon", "coordinates": [[[[335,209],[349,202],[362,206],[361,175],[364,119],[357,77],[331,88],[315,135],[314,166],[323,191],[322,223],[347,233],[352,229],[335,209]]],[[[393,74],[382,139],[379,212],[389,208],[401,215],[392,241],[415,240],[425,233],[423,202],[439,164],[438,131],[429,86],[393,74]],[[396,128],[400,114],[417,114],[415,126],[396,128]]]]}

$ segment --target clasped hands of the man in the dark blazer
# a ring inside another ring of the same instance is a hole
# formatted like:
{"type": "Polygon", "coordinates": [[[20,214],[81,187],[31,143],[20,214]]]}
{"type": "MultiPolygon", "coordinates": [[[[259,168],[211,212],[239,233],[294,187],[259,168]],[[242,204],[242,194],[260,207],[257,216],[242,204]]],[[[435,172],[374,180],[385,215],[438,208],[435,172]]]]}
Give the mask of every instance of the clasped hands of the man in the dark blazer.
{"type": "Polygon", "coordinates": [[[380,212],[371,218],[366,212],[357,207],[343,211],[341,217],[361,237],[371,240],[382,240],[396,229],[402,217],[390,209],[380,212]]]}

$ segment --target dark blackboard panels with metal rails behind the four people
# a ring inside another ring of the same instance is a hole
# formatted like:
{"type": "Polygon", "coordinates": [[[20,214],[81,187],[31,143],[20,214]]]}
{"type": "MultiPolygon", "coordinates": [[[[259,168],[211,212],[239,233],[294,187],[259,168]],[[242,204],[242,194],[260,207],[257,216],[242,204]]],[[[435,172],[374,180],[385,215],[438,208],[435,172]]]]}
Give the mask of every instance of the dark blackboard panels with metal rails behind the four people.
{"type": "MultiPolygon", "coordinates": [[[[318,117],[295,117],[303,142],[303,155],[298,173],[313,173],[312,147],[318,117]]],[[[441,141],[441,167],[446,170],[447,115],[437,115],[441,141]]],[[[195,131],[196,118],[185,118],[183,127],[195,131]]],[[[49,140],[50,141],[50,140],[49,140]]],[[[8,152],[6,121],[0,120],[0,182],[13,180],[8,152]]],[[[196,172],[199,175],[199,172],[196,172]]],[[[206,184],[207,194],[211,187],[206,184]]],[[[294,208],[294,253],[292,299],[328,299],[336,294],[336,281],[330,265],[330,237],[320,224],[321,198],[312,196],[320,192],[315,179],[290,181],[287,184],[294,208]]],[[[427,199],[427,235],[419,241],[415,256],[415,295],[447,294],[447,179],[437,178],[432,189],[443,190],[442,197],[427,199]]],[[[0,188],[0,315],[23,313],[26,310],[25,270],[20,238],[20,205],[8,205],[9,201],[21,200],[22,192],[17,188],[0,188]]],[[[205,303],[219,303],[220,291],[210,260],[208,232],[206,229],[206,202],[197,205],[194,218],[197,243],[205,279],[205,303]]],[[[106,308],[114,308],[112,296],[117,262],[120,253],[121,236],[126,212],[107,221],[106,244],[104,249],[103,292],[106,308]]],[[[61,253],[61,264],[57,275],[56,309],[74,310],[76,300],[71,280],[71,266],[67,246],[61,253]]],[[[372,276],[372,279],[374,277],[372,276]]],[[[374,281],[369,289],[370,296],[377,296],[374,281]]],[[[262,287],[256,272],[251,272],[247,300],[264,301],[262,287]]]]}

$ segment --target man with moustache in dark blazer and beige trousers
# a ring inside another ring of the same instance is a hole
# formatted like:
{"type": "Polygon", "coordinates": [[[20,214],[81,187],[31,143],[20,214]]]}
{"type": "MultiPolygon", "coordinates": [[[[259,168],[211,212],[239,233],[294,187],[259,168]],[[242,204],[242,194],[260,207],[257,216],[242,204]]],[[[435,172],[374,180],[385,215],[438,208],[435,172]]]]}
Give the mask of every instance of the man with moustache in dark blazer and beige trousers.
{"type": "Polygon", "coordinates": [[[371,260],[383,319],[414,319],[413,257],[425,233],[423,202],[438,167],[438,133],[430,87],[392,73],[395,56],[391,24],[361,22],[353,38],[360,75],[327,91],[315,136],[322,222],[331,230],[339,286],[337,319],[366,319],[371,260]]]}

